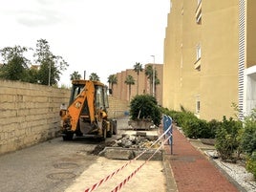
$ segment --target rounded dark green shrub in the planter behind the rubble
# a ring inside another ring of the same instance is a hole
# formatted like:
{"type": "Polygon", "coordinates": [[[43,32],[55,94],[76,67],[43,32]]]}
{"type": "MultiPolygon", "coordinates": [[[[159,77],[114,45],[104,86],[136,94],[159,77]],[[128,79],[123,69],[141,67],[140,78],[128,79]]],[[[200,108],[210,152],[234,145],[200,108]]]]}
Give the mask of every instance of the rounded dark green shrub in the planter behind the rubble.
{"type": "Polygon", "coordinates": [[[133,120],[151,117],[154,124],[160,125],[160,107],[154,96],[139,95],[131,100],[130,115],[133,120]]]}

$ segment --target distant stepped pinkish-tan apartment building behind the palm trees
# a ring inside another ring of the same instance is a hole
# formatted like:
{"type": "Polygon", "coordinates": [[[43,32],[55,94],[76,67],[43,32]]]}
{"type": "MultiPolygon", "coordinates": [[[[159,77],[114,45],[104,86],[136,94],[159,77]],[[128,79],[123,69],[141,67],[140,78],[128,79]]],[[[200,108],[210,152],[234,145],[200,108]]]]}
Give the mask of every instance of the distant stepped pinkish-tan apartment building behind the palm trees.
{"type": "MultiPolygon", "coordinates": [[[[145,66],[143,66],[143,71],[139,72],[139,76],[133,69],[127,69],[125,71],[117,73],[117,84],[113,85],[113,96],[116,96],[122,100],[130,100],[137,96],[137,90],[139,90],[138,94],[148,94],[153,96],[156,96],[156,99],[158,100],[158,103],[162,104],[162,64],[152,64],[148,63],[145,66]],[[148,65],[151,65],[156,73],[157,77],[160,80],[160,84],[157,84],[154,91],[152,90],[152,85],[150,83],[150,80],[145,75],[145,69],[148,65]],[[129,86],[125,84],[125,79],[128,75],[132,75],[135,79],[135,84],[131,85],[131,95],[129,96],[129,86]],[[138,89],[139,85],[139,89],[138,89]]],[[[111,85],[109,85],[111,88],[111,85]]]]}

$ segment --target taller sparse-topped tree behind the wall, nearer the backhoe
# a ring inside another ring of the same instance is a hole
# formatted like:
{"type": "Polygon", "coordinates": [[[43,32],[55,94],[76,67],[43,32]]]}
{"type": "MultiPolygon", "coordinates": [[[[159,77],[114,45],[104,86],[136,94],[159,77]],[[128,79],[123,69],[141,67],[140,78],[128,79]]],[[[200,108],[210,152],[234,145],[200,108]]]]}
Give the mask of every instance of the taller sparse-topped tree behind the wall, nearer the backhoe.
{"type": "Polygon", "coordinates": [[[61,72],[69,66],[62,56],[54,55],[50,51],[48,41],[45,39],[37,40],[33,56],[35,57],[35,62],[40,64],[38,79],[43,85],[55,85],[60,78],[61,72]]]}

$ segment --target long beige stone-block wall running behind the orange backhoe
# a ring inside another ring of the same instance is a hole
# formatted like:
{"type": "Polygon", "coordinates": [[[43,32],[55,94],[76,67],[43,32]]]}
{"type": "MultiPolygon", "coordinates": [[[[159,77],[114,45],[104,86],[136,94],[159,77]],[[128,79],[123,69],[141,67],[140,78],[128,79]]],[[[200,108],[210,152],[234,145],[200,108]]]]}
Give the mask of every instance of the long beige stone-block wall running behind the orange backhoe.
{"type": "MultiPolygon", "coordinates": [[[[67,89],[0,80],[0,154],[56,137],[69,96],[67,89]]],[[[109,117],[128,111],[127,101],[109,96],[109,102],[109,117]]]]}

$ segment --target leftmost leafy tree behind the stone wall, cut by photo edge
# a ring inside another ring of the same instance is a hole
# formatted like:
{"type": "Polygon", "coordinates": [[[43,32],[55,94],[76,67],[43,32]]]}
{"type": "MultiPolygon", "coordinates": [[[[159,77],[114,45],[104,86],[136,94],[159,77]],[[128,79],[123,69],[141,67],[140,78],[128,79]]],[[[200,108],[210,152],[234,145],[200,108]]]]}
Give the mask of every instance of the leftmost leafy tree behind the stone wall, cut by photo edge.
{"type": "Polygon", "coordinates": [[[26,81],[26,73],[31,63],[24,56],[30,48],[14,46],[0,50],[4,66],[0,69],[0,77],[10,80],[26,81]]]}

